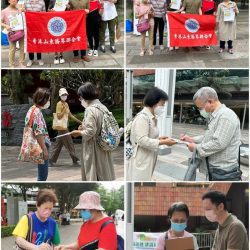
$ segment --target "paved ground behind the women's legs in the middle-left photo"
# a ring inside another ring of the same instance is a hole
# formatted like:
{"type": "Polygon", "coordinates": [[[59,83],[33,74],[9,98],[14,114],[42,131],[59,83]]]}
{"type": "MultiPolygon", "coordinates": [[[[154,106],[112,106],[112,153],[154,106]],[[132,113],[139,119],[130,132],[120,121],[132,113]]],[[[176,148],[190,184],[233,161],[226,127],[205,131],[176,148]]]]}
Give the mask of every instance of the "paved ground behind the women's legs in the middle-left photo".
{"type": "MultiPolygon", "coordinates": [[[[77,156],[80,158],[81,144],[75,144],[77,156]]],[[[17,160],[20,152],[18,146],[2,146],[2,182],[5,181],[36,181],[37,165],[32,162],[17,160]]],[[[113,152],[116,181],[124,180],[123,146],[113,152]]],[[[72,167],[72,159],[63,147],[56,167],[49,167],[47,181],[81,181],[81,167],[72,167]]]]}

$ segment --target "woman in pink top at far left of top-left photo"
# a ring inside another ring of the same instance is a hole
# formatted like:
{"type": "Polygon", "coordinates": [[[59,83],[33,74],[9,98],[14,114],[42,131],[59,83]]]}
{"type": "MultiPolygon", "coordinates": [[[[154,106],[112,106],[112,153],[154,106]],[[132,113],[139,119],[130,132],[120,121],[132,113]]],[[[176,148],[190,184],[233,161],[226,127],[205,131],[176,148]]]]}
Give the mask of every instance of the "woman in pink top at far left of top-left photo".
{"type": "MultiPolygon", "coordinates": [[[[17,0],[9,0],[9,6],[5,9],[2,10],[1,12],[1,26],[5,28],[8,32],[11,31],[10,27],[10,16],[15,16],[19,13],[19,10],[17,8],[17,0]]],[[[18,40],[19,42],[19,47],[20,47],[20,67],[24,68],[24,37],[18,40]]],[[[10,47],[9,47],[9,67],[14,68],[15,67],[15,52],[16,52],[16,42],[10,42],[10,47]]]]}

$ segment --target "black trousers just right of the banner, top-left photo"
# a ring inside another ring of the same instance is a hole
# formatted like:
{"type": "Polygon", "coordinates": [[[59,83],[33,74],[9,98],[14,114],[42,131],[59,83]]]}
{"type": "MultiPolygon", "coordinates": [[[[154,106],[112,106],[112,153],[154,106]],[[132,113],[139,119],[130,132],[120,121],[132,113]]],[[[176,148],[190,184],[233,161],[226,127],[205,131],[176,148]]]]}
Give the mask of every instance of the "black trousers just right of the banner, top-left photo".
{"type": "Polygon", "coordinates": [[[87,37],[90,49],[97,50],[99,47],[99,29],[101,16],[98,10],[94,10],[87,15],[87,37]]]}

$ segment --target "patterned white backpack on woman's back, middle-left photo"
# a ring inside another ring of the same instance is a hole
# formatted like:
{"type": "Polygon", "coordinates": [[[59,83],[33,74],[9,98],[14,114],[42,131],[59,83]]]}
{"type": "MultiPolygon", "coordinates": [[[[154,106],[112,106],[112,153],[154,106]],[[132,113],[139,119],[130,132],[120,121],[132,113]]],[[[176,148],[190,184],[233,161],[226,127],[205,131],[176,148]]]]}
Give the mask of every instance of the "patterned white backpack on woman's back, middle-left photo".
{"type": "Polygon", "coordinates": [[[92,105],[103,113],[101,133],[97,137],[97,144],[103,151],[115,150],[121,139],[119,125],[112,112],[104,109],[98,104],[92,105]]]}

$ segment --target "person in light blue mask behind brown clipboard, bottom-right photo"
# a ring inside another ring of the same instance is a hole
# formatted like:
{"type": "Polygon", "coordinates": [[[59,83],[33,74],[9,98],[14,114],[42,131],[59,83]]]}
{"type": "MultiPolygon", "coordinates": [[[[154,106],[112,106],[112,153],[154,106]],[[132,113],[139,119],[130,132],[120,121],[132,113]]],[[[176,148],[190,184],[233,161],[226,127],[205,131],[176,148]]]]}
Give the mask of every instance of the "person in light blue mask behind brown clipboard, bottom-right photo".
{"type": "Polygon", "coordinates": [[[194,250],[198,250],[199,247],[196,238],[185,230],[187,228],[188,217],[189,209],[185,203],[173,203],[168,210],[168,219],[170,220],[171,226],[167,232],[164,232],[158,237],[155,250],[168,250],[165,246],[165,241],[178,237],[193,237],[194,250]]]}

